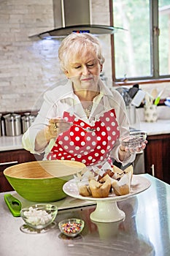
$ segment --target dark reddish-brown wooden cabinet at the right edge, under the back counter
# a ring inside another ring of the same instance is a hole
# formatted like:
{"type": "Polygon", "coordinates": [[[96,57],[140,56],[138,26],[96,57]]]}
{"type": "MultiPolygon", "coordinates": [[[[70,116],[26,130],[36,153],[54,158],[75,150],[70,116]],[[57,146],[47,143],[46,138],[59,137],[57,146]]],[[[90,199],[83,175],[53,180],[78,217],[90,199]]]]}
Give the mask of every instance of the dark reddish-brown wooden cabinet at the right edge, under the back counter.
{"type": "Polygon", "coordinates": [[[146,173],[170,184],[170,134],[149,135],[144,150],[146,173]]]}

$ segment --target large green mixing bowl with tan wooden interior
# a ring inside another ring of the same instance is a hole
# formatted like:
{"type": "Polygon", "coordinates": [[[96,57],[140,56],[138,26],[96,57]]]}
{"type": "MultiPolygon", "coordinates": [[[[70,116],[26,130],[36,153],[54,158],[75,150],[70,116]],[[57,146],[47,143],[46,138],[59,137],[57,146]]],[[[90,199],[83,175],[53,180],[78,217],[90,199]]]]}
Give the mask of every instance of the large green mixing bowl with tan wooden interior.
{"type": "Polygon", "coordinates": [[[84,167],[82,162],[66,160],[25,162],[7,167],[4,176],[26,200],[53,202],[66,197],[63,184],[84,167]]]}

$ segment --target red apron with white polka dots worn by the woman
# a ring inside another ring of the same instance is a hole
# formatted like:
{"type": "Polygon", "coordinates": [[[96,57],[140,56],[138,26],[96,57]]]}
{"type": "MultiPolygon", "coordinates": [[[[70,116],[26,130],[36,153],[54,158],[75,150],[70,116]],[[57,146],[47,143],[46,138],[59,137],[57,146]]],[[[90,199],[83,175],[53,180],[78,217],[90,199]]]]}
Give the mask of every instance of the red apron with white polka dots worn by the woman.
{"type": "Polygon", "coordinates": [[[47,159],[73,160],[85,165],[96,165],[108,159],[109,152],[120,136],[115,110],[103,113],[93,126],[68,112],[63,113],[63,118],[84,128],[95,128],[96,131],[85,132],[80,127],[70,127],[58,135],[55,145],[47,154],[47,159]]]}

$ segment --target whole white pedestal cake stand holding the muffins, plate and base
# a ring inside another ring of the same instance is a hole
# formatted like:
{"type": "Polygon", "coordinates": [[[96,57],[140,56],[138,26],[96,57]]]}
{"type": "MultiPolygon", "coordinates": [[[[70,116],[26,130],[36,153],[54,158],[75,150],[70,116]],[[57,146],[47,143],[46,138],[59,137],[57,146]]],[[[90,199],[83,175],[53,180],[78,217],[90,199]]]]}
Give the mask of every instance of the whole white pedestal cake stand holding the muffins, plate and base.
{"type": "Polygon", "coordinates": [[[117,206],[117,201],[125,200],[132,197],[150,187],[151,183],[139,175],[134,175],[131,182],[131,192],[128,195],[116,196],[114,192],[109,194],[109,197],[95,198],[83,197],[79,194],[77,182],[73,179],[63,185],[63,192],[71,197],[80,200],[90,200],[96,202],[96,209],[90,214],[90,219],[94,222],[118,222],[125,218],[124,211],[121,211],[117,206]]]}

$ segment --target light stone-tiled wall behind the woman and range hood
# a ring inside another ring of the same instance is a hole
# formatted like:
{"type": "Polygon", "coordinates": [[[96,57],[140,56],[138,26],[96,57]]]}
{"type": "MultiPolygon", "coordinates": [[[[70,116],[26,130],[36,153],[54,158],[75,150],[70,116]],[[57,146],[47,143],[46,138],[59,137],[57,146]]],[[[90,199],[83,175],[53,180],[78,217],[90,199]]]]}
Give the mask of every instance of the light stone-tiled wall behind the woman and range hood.
{"type": "MultiPolygon", "coordinates": [[[[93,0],[93,23],[109,25],[109,1],[93,0]]],[[[53,29],[53,0],[0,1],[0,112],[32,110],[45,90],[64,78],[58,40],[28,36],[53,29]]],[[[109,36],[101,37],[111,75],[109,36]],[[106,47],[107,45],[107,47],[106,47]]]]}

